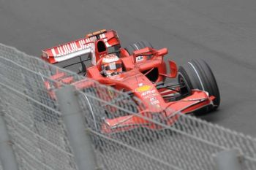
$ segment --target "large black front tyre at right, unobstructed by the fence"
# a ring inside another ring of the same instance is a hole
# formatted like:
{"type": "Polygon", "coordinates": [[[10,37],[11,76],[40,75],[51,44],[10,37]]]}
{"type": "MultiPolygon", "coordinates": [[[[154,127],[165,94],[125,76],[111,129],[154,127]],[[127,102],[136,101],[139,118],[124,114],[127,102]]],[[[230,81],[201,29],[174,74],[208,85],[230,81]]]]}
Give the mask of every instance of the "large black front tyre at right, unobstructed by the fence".
{"type": "Polygon", "coordinates": [[[214,107],[205,107],[197,110],[195,115],[201,115],[217,109],[220,104],[219,88],[214,74],[210,67],[203,60],[190,61],[178,69],[178,82],[185,82],[190,89],[199,89],[208,92],[209,96],[214,96],[214,107]]]}

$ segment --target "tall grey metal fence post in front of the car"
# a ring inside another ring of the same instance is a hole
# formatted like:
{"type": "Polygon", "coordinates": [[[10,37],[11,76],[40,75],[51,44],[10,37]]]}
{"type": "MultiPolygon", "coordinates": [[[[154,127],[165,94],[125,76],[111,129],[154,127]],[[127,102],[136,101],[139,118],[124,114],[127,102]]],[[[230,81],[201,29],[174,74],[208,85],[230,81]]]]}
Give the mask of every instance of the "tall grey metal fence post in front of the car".
{"type": "Polygon", "coordinates": [[[78,169],[97,169],[93,145],[89,134],[86,133],[86,127],[84,125],[85,118],[78,104],[78,96],[75,87],[67,85],[56,90],[56,97],[61,113],[64,116],[67,135],[74,151],[75,162],[78,165],[78,169]]]}

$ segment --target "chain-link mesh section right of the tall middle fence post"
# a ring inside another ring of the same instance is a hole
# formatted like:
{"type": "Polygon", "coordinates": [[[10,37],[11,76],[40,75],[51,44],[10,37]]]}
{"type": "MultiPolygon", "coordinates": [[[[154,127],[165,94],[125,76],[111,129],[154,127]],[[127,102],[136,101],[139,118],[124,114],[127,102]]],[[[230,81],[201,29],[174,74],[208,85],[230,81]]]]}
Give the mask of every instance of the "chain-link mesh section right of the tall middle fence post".
{"type": "Polygon", "coordinates": [[[214,154],[232,148],[244,155],[243,169],[256,169],[256,140],[250,136],[181,113],[174,116],[177,120],[171,126],[151,120],[138,114],[138,102],[127,94],[102,85],[81,90],[79,100],[108,169],[214,169],[214,154]],[[88,112],[90,106],[94,107],[88,112]],[[140,127],[127,131],[127,126],[116,125],[112,130],[118,128],[121,133],[102,133],[103,128],[108,128],[105,120],[126,115],[142,117],[140,127]],[[159,130],[143,127],[144,120],[159,130]]]}

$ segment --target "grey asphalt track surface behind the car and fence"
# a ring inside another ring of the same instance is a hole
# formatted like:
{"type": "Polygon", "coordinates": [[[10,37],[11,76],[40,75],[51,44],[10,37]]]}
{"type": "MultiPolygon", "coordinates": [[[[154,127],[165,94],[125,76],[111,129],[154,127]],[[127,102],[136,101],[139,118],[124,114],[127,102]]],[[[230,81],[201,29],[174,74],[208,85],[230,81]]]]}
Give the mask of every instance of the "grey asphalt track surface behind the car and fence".
{"type": "Polygon", "coordinates": [[[203,58],[221,93],[202,118],[256,136],[255,0],[0,0],[0,42],[30,55],[102,28],[146,39],[182,65],[203,58]]]}

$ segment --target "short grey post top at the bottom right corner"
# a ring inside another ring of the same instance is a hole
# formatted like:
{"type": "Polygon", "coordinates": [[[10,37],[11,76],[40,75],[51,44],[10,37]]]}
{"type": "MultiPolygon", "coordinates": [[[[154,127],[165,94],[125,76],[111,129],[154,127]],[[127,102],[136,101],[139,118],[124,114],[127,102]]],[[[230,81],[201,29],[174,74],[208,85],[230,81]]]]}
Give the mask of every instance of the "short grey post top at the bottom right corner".
{"type": "Polygon", "coordinates": [[[238,150],[224,150],[214,155],[217,170],[242,170],[238,150]]]}

